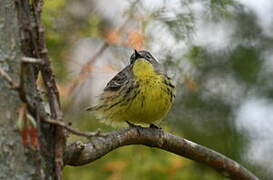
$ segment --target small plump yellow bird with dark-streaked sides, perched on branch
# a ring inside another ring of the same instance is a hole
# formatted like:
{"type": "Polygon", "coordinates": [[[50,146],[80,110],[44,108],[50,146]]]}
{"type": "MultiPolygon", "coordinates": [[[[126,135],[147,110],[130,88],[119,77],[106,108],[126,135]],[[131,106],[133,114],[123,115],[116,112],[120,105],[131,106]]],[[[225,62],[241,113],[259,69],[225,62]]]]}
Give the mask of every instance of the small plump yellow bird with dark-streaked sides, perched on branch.
{"type": "Polygon", "coordinates": [[[153,124],[169,112],[175,98],[171,79],[148,51],[136,51],[130,64],[109,81],[95,111],[110,124],[153,124]]]}

